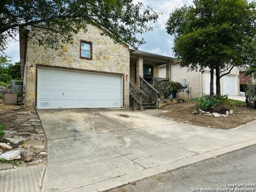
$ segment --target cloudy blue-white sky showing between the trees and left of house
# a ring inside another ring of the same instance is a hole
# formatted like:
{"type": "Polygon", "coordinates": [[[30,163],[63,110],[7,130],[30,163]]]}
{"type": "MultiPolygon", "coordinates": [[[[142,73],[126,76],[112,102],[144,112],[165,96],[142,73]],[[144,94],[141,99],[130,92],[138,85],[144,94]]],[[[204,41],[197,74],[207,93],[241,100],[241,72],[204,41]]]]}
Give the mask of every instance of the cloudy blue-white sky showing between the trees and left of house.
{"type": "MultiPolygon", "coordinates": [[[[140,46],[138,50],[160,54],[164,56],[173,56],[172,46],[173,37],[165,32],[165,24],[168,20],[169,14],[175,7],[182,7],[184,4],[191,5],[192,0],[133,0],[134,3],[142,2],[144,7],[150,6],[154,11],[163,13],[160,15],[158,22],[149,24],[153,26],[152,32],[147,32],[138,35],[138,38],[144,38],[146,44],[140,46]]],[[[18,37],[9,43],[5,54],[12,57],[12,63],[20,61],[20,50],[18,37]]]]}

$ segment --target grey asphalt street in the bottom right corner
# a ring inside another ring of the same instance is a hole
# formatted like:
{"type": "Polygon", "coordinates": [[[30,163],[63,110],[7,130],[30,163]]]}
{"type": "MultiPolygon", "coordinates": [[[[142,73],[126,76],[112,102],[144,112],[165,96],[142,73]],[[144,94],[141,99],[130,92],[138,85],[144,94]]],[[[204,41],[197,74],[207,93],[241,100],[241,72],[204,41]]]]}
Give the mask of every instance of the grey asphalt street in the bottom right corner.
{"type": "Polygon", "coordinates": [[[255,191],[256,145],[108,192],[255,191]]]}

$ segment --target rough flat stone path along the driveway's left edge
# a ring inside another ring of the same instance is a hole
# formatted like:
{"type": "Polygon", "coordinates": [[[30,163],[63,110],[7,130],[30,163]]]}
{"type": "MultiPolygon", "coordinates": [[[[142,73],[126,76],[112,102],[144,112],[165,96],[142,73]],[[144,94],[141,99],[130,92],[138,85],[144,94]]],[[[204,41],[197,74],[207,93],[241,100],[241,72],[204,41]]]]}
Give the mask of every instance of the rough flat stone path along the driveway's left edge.
{"type": "MultiPolygon", "coordinates": [[[[16,130],[19,131],[4,130],[6,134],[0,141],[0,159],[22,160],[21,164],[26,166],[46,162],[47,141],[37,112],[10,111],[10,113],[17,117],[15,122],[19,128],[16,130]],[[29,161],[26,162],[26,160],[29,161]]],[[[18,167],[17,164],[13,165],[8,162],[0,164],[0,170],[18,167]]]]}

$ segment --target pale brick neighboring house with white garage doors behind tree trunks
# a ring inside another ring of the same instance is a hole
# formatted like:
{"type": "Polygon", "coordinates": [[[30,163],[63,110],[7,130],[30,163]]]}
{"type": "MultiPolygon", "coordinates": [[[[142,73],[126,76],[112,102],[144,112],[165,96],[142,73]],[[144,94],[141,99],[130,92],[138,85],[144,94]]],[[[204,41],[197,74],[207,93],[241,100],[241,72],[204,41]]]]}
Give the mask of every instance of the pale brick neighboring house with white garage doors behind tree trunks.
{"type": "MultiPolygon", "coordinates": [[[[180,62],[176,61],[171,67],[171,80],[180,82],[187,86],[183,92],[177,95],[179,98],[192,99],[200,98],[210,94],[210,70],[204,73],[199,71],[188,71],[187,67],[180,68],[180,62]],[[186,84],[185,84],[186,82],[186,84]]],[[[216,76],[214,75],[214,93],[216,93],[216,76]]],[[[225,75],[220,80],[221,94],[237,96],[239,95],[239,68],[234,67],[230,74],[225,75]]]]}

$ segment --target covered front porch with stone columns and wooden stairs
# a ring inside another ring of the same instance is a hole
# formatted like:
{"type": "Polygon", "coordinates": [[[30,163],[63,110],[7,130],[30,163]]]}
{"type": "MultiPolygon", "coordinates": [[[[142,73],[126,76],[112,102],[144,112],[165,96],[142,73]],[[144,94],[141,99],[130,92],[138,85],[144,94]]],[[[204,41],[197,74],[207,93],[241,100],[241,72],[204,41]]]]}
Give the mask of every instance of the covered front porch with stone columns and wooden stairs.
{"type": "Polygon", "coordinates": [[[130,107],[157,109],[159,92],[154,84],[162,84],[170,79],[174,58],[133,51],[130,54],[130,107]],[[159,67],[166,66],[165,76],[159,77],[159,67]]]}

